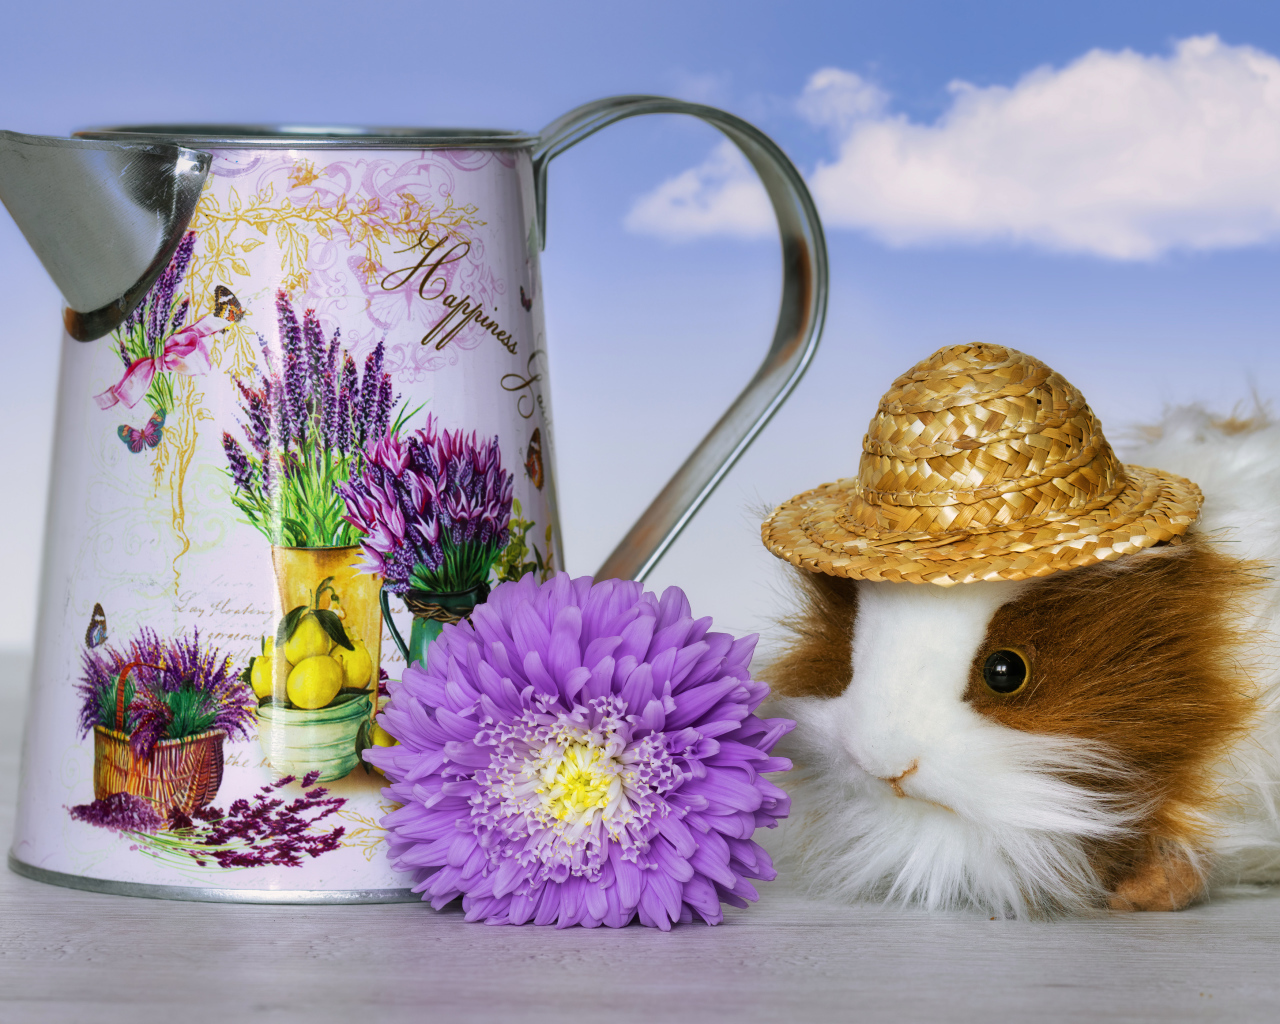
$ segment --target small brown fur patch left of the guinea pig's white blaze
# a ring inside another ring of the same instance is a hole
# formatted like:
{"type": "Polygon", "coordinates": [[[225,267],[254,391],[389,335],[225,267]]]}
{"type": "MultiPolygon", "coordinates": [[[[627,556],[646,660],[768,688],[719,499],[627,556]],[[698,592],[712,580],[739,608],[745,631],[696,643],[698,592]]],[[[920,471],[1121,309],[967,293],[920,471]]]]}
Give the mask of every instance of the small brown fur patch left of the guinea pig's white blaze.
{"type": "Polygon", "coordinates": [[[762,677],[777,696],[840,696],[854,677],[856,586],[852,580],[803,568],[791,579],[800,611],[780,623],[791,639],[762,677]]]}

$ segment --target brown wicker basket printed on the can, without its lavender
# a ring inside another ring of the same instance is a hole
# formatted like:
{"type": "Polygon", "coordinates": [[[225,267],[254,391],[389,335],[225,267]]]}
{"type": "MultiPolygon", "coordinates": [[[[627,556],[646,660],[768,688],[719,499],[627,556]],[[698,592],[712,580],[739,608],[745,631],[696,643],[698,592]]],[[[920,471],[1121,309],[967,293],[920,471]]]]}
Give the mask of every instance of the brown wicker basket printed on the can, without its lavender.
{"type": "Polygon", "coordinates": [[[218,795],[223,783],[220,730],[184,740],[160,740],[146,759],[136,758],[124,732],[93,726],[93,796],[105,800],[128,792],[150,800],[156,813],[191,814],[218,795]]]}

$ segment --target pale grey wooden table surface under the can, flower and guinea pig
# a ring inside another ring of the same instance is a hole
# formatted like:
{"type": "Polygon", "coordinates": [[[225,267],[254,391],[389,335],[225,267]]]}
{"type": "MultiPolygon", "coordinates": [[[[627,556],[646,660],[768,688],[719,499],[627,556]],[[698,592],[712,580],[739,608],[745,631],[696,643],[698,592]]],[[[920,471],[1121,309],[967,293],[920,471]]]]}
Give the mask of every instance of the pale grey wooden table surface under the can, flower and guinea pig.
{"type": "MultiPolygon", "coordinates": [[[[9,846],[27,662],[0,657],[9,846]]],[[[104,896],[0,869],[0,1021],[1280,1021],[1280,891],[1015,922],[778,882],[722,927],[488,928],[417,904],[104,896]]]]}

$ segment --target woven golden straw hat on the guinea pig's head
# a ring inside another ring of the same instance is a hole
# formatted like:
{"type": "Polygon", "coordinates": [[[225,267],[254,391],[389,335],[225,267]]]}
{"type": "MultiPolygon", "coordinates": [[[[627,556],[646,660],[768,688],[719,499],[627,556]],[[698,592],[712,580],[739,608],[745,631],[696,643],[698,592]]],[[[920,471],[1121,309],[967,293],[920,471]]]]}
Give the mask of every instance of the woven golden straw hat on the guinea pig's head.
{"type": "Polygon", "coordinates": [[[858,476],[778,506],[764,545],[856,580],[1025,580],[1176,539],[1189,480],[1123,466],[1080,393],[995,344],[941,348],[893,381],[858,476]]]}

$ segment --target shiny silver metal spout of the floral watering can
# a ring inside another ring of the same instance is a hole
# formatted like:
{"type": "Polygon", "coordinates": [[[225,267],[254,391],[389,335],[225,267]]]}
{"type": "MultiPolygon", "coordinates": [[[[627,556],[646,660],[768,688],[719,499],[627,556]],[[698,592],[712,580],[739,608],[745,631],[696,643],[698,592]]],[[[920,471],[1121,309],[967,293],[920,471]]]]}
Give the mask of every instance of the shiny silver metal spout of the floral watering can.
{"type": "Polygon", "coordinates": [[[67,300],[81,342],[119,326],[168,266],[210,156],[0,131],[0,202],[67,300]]]}

